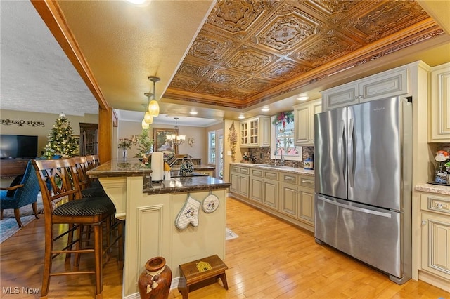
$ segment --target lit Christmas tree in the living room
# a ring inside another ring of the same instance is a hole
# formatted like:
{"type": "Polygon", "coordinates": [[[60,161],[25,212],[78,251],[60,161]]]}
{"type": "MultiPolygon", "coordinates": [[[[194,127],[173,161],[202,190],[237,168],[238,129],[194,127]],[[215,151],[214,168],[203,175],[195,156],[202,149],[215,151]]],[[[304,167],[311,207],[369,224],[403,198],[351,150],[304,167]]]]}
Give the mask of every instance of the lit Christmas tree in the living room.
{"type": "Polygon", "coordinates": [[[45,147],[44,157],[50,159],[55,155],[72,157],[79,152],[79,145],[74,138],[74,131],[65,114],[60,114],[47,138],[49,142],[45,147]]]}

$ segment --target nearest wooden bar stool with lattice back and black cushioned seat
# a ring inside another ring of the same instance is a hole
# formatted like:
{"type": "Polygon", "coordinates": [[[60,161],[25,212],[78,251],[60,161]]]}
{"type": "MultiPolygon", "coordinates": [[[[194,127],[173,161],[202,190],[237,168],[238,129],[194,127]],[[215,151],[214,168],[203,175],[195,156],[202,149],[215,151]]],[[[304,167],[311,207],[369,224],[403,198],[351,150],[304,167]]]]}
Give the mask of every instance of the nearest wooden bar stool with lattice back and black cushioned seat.
{"type": "Polygon", "coordinates": [[[110,216],[115,215],[115,206],[108,197],[82,198],[79,187],[77,169],[74,159],[55,159],[32,161],[41,188],[44,204],[45,220],[45,253],[44,274],[42,279],[41,298],[49,292],[50,277],[70,274],[95,274],[96,298],[102,298],[102,224],[110,216]],[[63,204],[55,206],[55,202],[63,200],[63,204]],[[69,229],[60,232],[55,225],[68,224],[69,229]],[[81,229],[83,225],[94,227],[94,248],[82,248],[81,229]],[[70,242],[56,242],[65,235],[70,236],[76,230],[77,237],[70,242]],[[75,249],[73,246],[75,245],[75,249]],[[58,248],[56,248],[58,247],[58,248]],[[62,247],[62,248],[60,248],[62,247]],[[53,272],[53,258],[61,253],[75,253],[75,260],[81,253],[94,253],[95,269],[80,271],[77,267],[66,269],[66,272],[53,272]]]}

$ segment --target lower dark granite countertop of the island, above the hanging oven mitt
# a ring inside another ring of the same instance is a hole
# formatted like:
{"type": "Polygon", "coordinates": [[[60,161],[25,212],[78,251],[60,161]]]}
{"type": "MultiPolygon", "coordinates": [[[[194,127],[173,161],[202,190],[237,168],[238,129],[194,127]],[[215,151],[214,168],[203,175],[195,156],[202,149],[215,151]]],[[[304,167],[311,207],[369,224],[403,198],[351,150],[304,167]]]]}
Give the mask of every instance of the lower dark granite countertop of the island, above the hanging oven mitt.
{"type": "Polygon", "coordinates": [[[210,191],[225,189],[231,186],[231,182],[224,182],[211,176],[191,176],[172,178],[162,182],[152,182],[151,186],[146,186],[143,192],[148,194],[161,193],[186,193],[193,191],[210,191]]]}

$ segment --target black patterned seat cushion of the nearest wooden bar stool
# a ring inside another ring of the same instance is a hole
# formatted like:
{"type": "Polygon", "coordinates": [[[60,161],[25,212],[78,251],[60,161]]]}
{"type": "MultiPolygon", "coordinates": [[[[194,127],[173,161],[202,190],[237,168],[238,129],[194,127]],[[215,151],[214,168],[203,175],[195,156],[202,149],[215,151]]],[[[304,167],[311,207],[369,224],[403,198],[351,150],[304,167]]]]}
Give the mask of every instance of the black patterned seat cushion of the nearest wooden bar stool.
{"type": "Polygon", "coordinates": [[[53,210],[58,216],[94,216],[103,213],[114,214],[115,206],[108,197],[75,199],[53,210]]]}

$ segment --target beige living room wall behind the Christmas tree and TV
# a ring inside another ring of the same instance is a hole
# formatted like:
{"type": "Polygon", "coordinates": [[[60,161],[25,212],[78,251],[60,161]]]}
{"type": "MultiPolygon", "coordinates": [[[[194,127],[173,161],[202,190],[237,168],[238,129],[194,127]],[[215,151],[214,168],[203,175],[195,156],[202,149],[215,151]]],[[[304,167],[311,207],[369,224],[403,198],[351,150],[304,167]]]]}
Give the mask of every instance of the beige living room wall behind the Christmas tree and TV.
{"type": "MultiPolygon", "coordinates": [[[[74,115],[65,114],[65,116],[70,121],[70,126],[75,133],[75,135],[79,135],[79,123],[98,123],[98,115],[97,114],[86,114],[84,117],[77,117],[74,115]]],[[[42,121],[44,122],[44,126],[18,126],[18,125],[1,125],[0,126],[0,134],[5,135],[29,135],[36,136],[37,135],[37,156],[41,156],[41,151],[44,150],[45,145],[47,144],[47,135],[50,133],[53,128],[53,124],[55,124],[56,119],[58,119],[59,114],[51,114],[51,113],[37,113],[37,112],[25,112],[25,111],[15,111],[15,110],[5,110],[0,109],[0,119],[6,120],[9,119],[11,121],[42,121]]]]}

